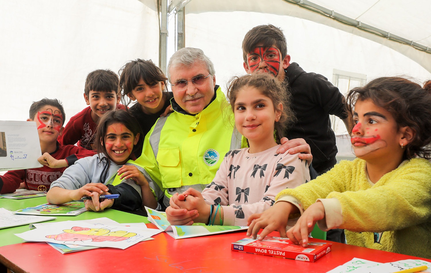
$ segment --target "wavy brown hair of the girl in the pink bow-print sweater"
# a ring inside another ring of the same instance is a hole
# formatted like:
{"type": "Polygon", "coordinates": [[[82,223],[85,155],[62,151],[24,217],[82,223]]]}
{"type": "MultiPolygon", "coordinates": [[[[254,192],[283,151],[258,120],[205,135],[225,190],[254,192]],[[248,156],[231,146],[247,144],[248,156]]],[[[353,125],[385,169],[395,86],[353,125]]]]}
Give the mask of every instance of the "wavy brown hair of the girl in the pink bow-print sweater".
{"type": "Polygon", "coordinates": [[[254,87],[262,92],[262,95],[271,99],[275,110],[280,110],[278,104],[283,105],[280,120],[274,123],[275,141],[280,144],[286,129],[296,121],[295,114],[290,107],[290,97],[288,97],[285,87],[275,77],[268,73],[255,73],[241,77],[232,77],[228,82],[227,97],[234,111],[235,101],[238,92],[247,87],[254,87]]]}

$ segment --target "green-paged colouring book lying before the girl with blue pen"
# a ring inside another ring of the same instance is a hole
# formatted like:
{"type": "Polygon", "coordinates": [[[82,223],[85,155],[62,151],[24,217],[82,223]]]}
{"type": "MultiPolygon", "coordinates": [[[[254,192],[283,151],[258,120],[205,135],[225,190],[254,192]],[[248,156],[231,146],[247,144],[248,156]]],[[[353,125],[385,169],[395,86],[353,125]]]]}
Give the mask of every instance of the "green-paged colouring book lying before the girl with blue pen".
{"type": "Polygon", "coordinates": [[[35,207],[19,209],[14,213],[30,215],[79,215],[86,212],[84,202],[72,201],[62,205],[42,204],[35,207]]]}

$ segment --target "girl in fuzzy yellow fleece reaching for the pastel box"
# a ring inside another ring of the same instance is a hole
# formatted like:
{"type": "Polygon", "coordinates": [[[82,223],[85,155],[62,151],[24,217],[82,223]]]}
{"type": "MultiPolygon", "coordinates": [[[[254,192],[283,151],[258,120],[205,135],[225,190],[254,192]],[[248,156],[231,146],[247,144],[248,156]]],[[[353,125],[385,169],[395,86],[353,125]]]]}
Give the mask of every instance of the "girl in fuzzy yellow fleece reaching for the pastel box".
{"type": "Polygon", "coordinates": [[[249,218],[258,239],[278,230],[303,246],[317,222],[344,228],[346,241],[431,258],[431,82],[421,88],[399,77],[372,80],[347,96],[358,158],[276,196],[274,206],[249,218]],[[286,232],[287,220],[297,219],[286,232]]]}

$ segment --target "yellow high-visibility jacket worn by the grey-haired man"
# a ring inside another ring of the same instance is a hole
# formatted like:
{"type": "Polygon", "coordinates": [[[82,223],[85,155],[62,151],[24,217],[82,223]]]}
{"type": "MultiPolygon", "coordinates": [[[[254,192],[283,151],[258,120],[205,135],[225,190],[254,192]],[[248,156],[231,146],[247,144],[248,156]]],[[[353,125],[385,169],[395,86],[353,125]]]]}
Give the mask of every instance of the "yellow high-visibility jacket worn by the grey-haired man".
{"type": "Polygon", "coordinates": [[[150,186],[158,186],[152,190],[157,199],[164,197],[165,206],[176,192],[189,187],[202,191],[225,154],[241,148],[242,136],[234,128],[231,107],[219,86],[214,93],[215,98],[196,115],[172,100],[174,112],[157,120],[145,137],[142,155],[135,160],[150,186]]]}

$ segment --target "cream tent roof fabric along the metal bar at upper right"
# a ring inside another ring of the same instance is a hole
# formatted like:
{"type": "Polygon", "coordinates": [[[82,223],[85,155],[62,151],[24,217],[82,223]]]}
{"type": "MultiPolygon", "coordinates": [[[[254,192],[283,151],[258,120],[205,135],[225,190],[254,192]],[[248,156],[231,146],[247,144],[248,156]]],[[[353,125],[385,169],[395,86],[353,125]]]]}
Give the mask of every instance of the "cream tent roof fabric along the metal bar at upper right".
{"type": "MultiPolygon", "coordinates": [[[[172,0],[172,2],[179,3],[184,2],[184,0],[172,0]]],[[[388,46],[421,64],[431,72],[431,54],[424,50],[344,25],[328,16],[310,12],[290,2],[314,3],[326,9],[334,10],[340,15],[361,21],[363,24],[371,25],[382,31],[387,31],[391,36],[397,35],[419,43],[425,46],[425,50],[428,47],[428,52],[430,52],[431,20],[428,12],[431,10],[431,1],[428,0],[192,0],[184,10],[186,14],[233,11],[261,12],[315,21],[388,46]]]]}

